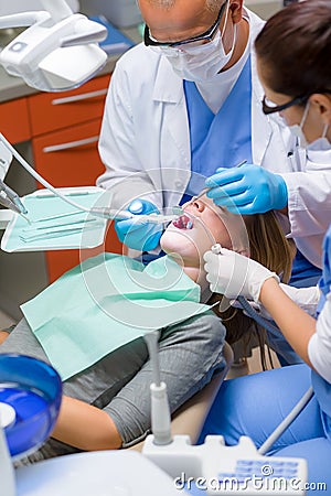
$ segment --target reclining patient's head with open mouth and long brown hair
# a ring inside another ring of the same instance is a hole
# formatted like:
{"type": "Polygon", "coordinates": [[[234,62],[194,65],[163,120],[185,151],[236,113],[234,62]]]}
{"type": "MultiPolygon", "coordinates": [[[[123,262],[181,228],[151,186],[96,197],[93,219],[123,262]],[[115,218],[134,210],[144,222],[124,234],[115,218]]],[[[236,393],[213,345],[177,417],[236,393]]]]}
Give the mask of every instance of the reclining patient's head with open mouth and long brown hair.
{"type": "MultiPolygon", "coordinates": [[[[296,247],[291,239],[286,239],[280,224],[273,212],[260,215],[238,216],[228,213],[226,208],[215,206],[212,200],[203,196],[200,201],[186,204],[185,212],[197,217],[201,222],[193,220],[194,229],[173,229],[170,226],[163,234],[161,246],[178,259],[175,251],[185,257],[186,273],[193,278],[204,290],[203,295],[209,304],[222,300],[221,305],[214,306],[213,311],[222,319],[226,327],[226,341],[234,344],[242,339],[242,344],[249,342],[258,343],[260,347],[260,359],[263,368],[266,368],[265,344],[270,339],[270,347],[286,357],[295,356],[289,345],[278,344],[277,336],[268,336],[264,330],[257,326],[241,310],[231,306],[226,299],[220,294],[211,294],[205,290],[205,273],[200,271],[204,262],[202,254],[207,246],[220,242],[224,248],[233,249],[254,260],[264,260],[265,267],[279,274],[282,282],[288,282],[291,273],[291,265],[296,255],[296,247]],[[221,222],[220,222],[221,220],[221,222]],[[179,237],[180,236],[180,237],[179,237]],[[185,239],[183,239],[185,236],[185,239]],[[166,247],[164,247],[166,245],[166,247]],[[199,248],[199,249],[197,249],[199,248]],[[194,267],[194,268],[193,268],[194,267]],[[197,276],[200,274],[200,277],[197,276]],[[254,334],[252,336],[252,334],[254,334]]],[[[190,218],[186,219],[186,224],[190,218]]],[[[185,220],[184,220],[185,224],[185,220]]],[[[243,348],[243,346],[242,346],[243,348]]],[[[269,356],[270,362],[270,356],[269,356]]]]}

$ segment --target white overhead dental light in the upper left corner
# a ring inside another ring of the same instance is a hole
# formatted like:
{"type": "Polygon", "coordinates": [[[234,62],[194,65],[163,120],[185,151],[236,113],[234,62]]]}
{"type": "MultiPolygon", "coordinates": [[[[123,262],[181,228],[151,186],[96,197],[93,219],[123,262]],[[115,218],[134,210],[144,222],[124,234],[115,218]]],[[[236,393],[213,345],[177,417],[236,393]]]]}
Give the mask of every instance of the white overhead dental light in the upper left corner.
{"type": "MultiPolygon", "coordinates": [[[[26,2],[29,6],[29,2],[26,2]]],[[[107,30],[73,13],[65,0],[41,0],[45,10],[0,17],[0,29],[26,29],[0,53],[0,64],[42,91],[75,88],[106,63],[98,46],[107,30]]]]}

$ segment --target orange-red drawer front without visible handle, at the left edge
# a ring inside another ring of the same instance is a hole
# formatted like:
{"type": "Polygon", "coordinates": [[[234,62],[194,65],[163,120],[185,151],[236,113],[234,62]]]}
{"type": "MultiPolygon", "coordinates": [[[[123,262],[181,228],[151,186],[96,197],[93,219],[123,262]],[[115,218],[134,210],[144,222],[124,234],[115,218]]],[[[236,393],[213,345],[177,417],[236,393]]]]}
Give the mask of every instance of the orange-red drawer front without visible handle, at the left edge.
{"type": "Polygon", "coordinates": [[[0,105],[1,132],[11,143],[31,138],[28,99],[19,98],[0,105]]]}

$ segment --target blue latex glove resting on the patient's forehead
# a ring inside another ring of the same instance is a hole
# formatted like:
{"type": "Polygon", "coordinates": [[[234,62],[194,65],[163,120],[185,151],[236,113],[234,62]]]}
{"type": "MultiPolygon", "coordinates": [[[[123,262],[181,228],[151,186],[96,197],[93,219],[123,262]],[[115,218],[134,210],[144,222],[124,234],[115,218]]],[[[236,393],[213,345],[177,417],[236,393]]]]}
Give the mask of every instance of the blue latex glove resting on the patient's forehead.
{"type": "Polygon", "coordinates": [[[239,168],[216,170],[205,181],[207,197],[234,214],[263,214],[287,205],[287,185],[281,175],[247,163],[239,168]]]}

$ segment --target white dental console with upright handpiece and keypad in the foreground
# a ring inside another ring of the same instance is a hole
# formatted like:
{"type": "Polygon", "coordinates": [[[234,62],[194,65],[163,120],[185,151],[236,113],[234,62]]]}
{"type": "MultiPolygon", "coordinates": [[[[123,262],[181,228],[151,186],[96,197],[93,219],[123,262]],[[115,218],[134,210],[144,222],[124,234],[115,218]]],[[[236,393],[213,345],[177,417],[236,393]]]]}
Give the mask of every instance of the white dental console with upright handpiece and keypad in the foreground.
{"type": "MultiPolygon", "coordinates": [[[[246,496],[276,496],[279,487],[277,484],[273,487],[269,475],[300,483],[292,487],[287,484],[287,495],[306,494],[307,462],[302,459],[269,457],[265,453],[305,408],[310,399],[309,395],[295,406],[259,450],[248,436],[242,436],[238,444],[233,446],[226,446],[222,435],[207,435],[203,444],[192,445],[189,435],[171,434],[167,385],[161,381],[159,370],[158,332],[148,333],[143,338],[152,363],[153,381],[150,385],[152,434],[145,441],[142,454],[168,473],[178,489],[183,489],[185,483],[197,481],[199,486],[200,482],[203,484],[200,488],[207,495],[243,493],[246,496]],[[270,472],[264,475],[265,466],[270,472]]],[[[190,489],[190,485],[188,488],[190,489]]]]}

